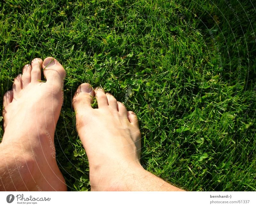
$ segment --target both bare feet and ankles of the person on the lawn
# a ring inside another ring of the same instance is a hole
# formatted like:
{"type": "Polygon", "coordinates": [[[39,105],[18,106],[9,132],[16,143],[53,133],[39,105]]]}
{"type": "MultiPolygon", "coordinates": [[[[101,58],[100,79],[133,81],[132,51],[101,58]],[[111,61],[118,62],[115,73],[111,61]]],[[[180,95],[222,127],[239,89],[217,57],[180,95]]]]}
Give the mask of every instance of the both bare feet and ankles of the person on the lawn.
{"type": "MultiPolygon", "coordinates": [[[[0,190],[67,190],[54,146],[64,76],[56,59],[35,58],[5,93],[0,190]],[[42,69],[46,82],[40,81],[42,69]]],[[[78,87],[72,104],[92,191],[181,191],[141,166],[138,119],[124,104],[88,83],[78,87]],[[91,107],[94,97],[96,109],[91,107]]]]}

